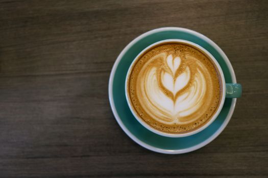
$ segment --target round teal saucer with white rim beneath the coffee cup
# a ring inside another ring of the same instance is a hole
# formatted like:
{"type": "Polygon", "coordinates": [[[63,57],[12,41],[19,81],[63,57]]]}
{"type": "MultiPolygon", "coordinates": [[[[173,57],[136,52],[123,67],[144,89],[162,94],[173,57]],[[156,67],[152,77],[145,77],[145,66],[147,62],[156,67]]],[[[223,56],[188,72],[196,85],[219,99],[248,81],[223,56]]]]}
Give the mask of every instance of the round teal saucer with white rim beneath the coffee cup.
{"type": "Polygon", "coordinates": [[[205,130],[187,137],[169,138],[144,128],[132,115],[125,96],[126,74],[136,55],[149,45],[166,39],[182,39],[196,43],[208,50],[221,65],[226,83],[236,83],[235,74],[225,53],[204,35],[186,28],[157,28],[130,42],[117,57],[109,80],[109,101],[119,126],[141,146],[154,152],[182,154],[205,146],[227,126],[233,114],[236,99],[225,99],[221,113],[205,130]]]}

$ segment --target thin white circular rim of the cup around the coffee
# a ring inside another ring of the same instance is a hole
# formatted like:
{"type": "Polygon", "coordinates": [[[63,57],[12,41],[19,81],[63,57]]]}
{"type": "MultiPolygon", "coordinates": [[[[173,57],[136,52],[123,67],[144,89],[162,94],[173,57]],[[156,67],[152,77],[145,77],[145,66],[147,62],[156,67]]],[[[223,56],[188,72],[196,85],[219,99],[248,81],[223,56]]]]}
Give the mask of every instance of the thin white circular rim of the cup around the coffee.
{"type": "Polygon", "coordinates": [[[218,114],[220,114],[222,108],[223,108],[223,105],[224,105],[224,102],[225,102],[225,97],[226,97],[226,84],[225,84],[225,78],[224,78],[224,73],[222,71],[222,68],[220,66],[220,64],[218,64],[217,60],[215,59],[215,57],[209,52],[207,51],[205,48],[203,48],[202,46],[196,44],[196,43],[193,43],[193,42],[190,42],[190,41],[187,41],[187,40],[181,40],[181,39],[167,39],[167,40],[161,40],[161,41],[158,41],[158,42],[155,42],[151,45],[149,45],[148,47],[144,48],[135,58],[134,60],[132,61],[129,69],[128,69],[128,72],[127,72],[127,76],[126,76],[126,81],[125,81],[125,95],[126,95],[126,99],[127,99],[127,103],[128,103],[128,106],[130,108],[130,111],[132,112],[133,116],[136,118],[136,120],[143,126],[145,127],[146,129],[158,134],[158,135],[161,135],[161,136],[165,136],[165,137],[173,137],[173,138],[177,138],[177,137],[187,137],[187,136],[190,136],[190,135],[194,135],[194,134],[197,134],[199,132],[201,132],[202,130],[206,129],[213,121],[215,121],[215,119],[217,118],[218,114]],[[210,120],[205,124],[203,125],[202,127],[196,129],[196,130],[193,130],[193,131],[190,131],[190,132],[186,132],[186,133],[179,133],[179,134],[174,134],[174,133],[166,133],[166,132],[161,132],[159,130],[156,130],[154,129],[153,127],[151,127],[149,124],[147,124],[145,121],[142,120],[142,118],[140,118],[137,113],[134,111],[134,109],[132,108],[133,106],[130,104],[130,98],[129,98],[129,94],[128,94],[128,80],[129,80],[129,75],[132,71],[132,68],[133,68],[133,65],[136,63],[136,61],[138,60],[138,58],[140,57],[141,54],[143,54],[145,51],[147,51],[148,49],[156,46],[156,45],[159,45],[159,44],[162,44],[162,43],[168,43],[168,42],[179,42],[179,43],[184,43],[184,44],[189,44],[189,45],[192,45],[196,48],[198,48],[199,50],[203,51],[205,54],[207,54],[211,60],[213,61],[214,65],[216,66],[218,72],[220,72],[220,76],[221,76],[221,82],[222,82],[222,97],[221,97],[221,102],[220,102],[220,105],[218,105],[218,108],[216,110],[216,112],[213,114],[213,116],[210,118],[210,120]]]}

